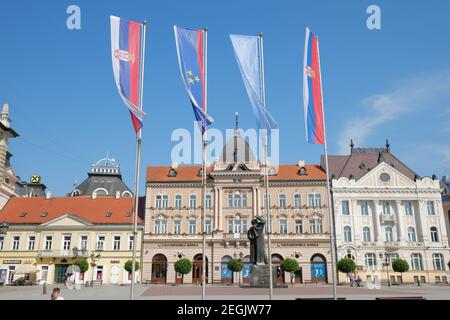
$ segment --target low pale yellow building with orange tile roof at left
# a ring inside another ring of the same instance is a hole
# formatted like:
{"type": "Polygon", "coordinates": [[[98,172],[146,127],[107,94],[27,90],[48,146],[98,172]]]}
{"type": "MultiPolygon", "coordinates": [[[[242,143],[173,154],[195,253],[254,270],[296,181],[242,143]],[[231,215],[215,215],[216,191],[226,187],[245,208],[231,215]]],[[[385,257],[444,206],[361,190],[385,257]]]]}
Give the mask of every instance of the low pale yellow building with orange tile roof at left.
{"type": "MultiPolygon", "coordinates": [[[[61,283],[66,269],[87,259],[83,283],[131,282],[124,264],[132,258],[132,197],[92,196],[11,198],[0,212],[0,270],[6,284],[25,277],[61,283]]],[[[136,257],[140,262],[142,221],[136,257]]],[[[141,264],[142,265],[142,264],[141,264]]],[[[0,278],[1,278],[0,273],[0,278]]],[[[136,272],[139,279],[139,271],[136,272]]],[[[0,279],[1,282],[1,279],[0,279]]]]}

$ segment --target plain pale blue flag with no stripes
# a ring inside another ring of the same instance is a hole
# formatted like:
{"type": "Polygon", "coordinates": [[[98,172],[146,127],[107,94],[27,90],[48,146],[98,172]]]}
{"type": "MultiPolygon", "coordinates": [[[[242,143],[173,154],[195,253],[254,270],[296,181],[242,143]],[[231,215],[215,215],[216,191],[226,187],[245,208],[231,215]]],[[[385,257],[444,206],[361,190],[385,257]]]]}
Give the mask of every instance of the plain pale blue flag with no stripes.
{"type": "Polygon", "coordinates": [[[258,37],[230,35],[230,39],[258,128],[265,129],[267,132],[276,129],[278,125],[263,104],[261,96],[263,83],[260,76],[261,57],[258,37]]]}

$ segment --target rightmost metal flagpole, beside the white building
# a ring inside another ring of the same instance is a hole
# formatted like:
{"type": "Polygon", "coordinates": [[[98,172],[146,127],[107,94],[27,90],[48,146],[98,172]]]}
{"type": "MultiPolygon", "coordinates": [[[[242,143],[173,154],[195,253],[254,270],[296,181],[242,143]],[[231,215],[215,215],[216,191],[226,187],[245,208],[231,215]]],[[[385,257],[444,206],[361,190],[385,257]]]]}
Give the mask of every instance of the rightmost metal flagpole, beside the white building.
{"type": "Polygon", "coordinates": [[[334,216],[332,212],[333,203],[331,202],[331,189],[330,189],[330,173],[328,170],[328,146],[327,146],[327,133],[325,125],[325,104],[323,102],[323,91],[322,91],[322,68],[320,67],[320,50],[319,50],[319,37],[317,37],[317,55],[319,56],[319,74],[320,74],[320,94],[322,96],[322,117],[323,117],[323,135],[324,135],[324,153],[325,153],[325,171],[327,173],[327,195],[328,195],[328,216],[329,216],[329,230],[330,230],[330,250],[331,250],[331,267],[332,267],[332,277],[333,277],[333,299],[337,299],[336,294],[336,237],[335,237],[335,224],[334,216]]]}

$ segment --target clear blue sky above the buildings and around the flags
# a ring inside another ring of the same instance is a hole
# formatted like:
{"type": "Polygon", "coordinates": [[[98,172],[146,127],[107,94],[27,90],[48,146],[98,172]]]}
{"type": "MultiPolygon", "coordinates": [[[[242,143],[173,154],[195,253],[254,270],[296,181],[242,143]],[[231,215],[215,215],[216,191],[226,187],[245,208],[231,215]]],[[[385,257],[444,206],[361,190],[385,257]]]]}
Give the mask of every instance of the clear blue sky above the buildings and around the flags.
{"type": "MultiPolygon", "coordinates": [[[[170,164],[177,128],[194,130],[180,79],[173,25],[208,27],[208,98],[214,127],[255,126],[229,34],[265,34],[267,105],[280,127],[280,162],[319,162],[305,142],[304,25],[320,36],[330,154],[357,146],[391,149],[419,175],[449,174],[450,20],[448,1],[2,1],[0,102],[20,137],[10,141],[16,174],[40,174],[63,195],[106,152],[133,187],[135,143],[117,94],[109,15],[149,21],[142,166],[170,164]],[[81,8],[81,30],[66,8],[81,8]],[[370,4],[381,30],[366,27],[370,4]]],[[[141,190],[144,187],[142,173],[141,190]]]]}

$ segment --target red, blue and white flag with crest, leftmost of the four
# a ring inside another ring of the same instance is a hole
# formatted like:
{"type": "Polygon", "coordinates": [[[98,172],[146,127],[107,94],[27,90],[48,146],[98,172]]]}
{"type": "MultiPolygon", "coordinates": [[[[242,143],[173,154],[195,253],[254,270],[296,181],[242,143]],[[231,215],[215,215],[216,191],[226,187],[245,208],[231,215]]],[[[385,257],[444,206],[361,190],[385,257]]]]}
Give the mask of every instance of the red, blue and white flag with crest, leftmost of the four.
{"type": "Polygon", "coordinates": [[[111,16],[111,54],[114,79],[120,97],[139,132],[145,113],[140,101],[142,24],[111,16]]]}

